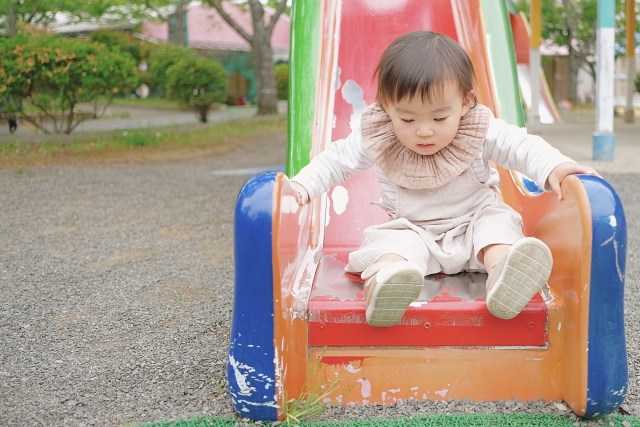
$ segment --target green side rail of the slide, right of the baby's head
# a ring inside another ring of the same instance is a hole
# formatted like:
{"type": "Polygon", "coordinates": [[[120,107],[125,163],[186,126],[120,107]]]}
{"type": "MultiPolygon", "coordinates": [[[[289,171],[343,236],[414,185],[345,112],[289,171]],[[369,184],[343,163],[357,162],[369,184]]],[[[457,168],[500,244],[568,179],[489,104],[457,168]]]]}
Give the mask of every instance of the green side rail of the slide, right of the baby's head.
{"type": "Polygon", "coordinates": [[[507,1],[481,0],[480,4],[500,118],[507,123],[524,126],[524,112],[520,99],[520,84],[507,1]]]}

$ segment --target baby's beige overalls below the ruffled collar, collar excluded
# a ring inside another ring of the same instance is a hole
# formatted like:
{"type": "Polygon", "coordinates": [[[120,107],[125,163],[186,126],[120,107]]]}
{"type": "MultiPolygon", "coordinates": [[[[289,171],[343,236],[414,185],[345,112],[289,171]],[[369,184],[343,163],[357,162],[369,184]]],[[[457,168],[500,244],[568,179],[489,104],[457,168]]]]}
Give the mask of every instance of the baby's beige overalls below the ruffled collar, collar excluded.
{"type": "Polygon", "coordinates": [[[365,230],[347,271],[361,272],[387,253],[414,262],[424,275],[485,271],[478,260],[482,248],[524,237],[520,215],[499,202],[471,169],[434,190],[398,186],[396,191],[394,217],[365,230]]]}

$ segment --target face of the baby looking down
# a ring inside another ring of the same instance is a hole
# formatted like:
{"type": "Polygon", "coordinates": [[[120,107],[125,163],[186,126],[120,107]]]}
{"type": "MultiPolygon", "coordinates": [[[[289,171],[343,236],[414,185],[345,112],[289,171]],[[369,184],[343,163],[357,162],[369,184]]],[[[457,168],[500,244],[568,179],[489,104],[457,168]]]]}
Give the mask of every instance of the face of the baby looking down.
{"type": "Polygon", "coordinates": [[[473,105],[474,96],[469,92],[463,97],[457,85],[447,84],[437,101],[405,97],[383,107],[402,145],[418,154],[431,155],[453,141],[460,118],[473,105]]]}

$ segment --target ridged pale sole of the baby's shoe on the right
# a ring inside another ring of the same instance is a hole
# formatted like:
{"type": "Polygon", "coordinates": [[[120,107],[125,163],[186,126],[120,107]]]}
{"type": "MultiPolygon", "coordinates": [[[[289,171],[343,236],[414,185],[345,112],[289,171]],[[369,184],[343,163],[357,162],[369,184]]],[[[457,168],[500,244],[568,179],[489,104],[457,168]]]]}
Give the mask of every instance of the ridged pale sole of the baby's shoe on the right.
{"type": "Polygon", "coordinates": [[[500,319],[513,319],[549,280],[553,258],[538,239],[526,237],[509,251],[500,277],[487,295],[487,308],[500,319]]]}

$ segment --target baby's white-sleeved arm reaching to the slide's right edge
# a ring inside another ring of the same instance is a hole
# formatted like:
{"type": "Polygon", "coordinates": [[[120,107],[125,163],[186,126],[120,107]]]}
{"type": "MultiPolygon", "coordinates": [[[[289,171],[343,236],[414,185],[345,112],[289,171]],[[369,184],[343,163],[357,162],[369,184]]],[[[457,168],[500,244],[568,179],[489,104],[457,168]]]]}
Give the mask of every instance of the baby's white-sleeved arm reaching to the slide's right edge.
{"type": "Polygon", "coordinates": [[[522,172],[540,188],[553,191],[559,197],[560,181],[565,176],[574,173],[598,175],[592,168],[563,155],[541,137],[528,134],[525,128],[494,117],[489,123],[482,157],[522,172]]]}

